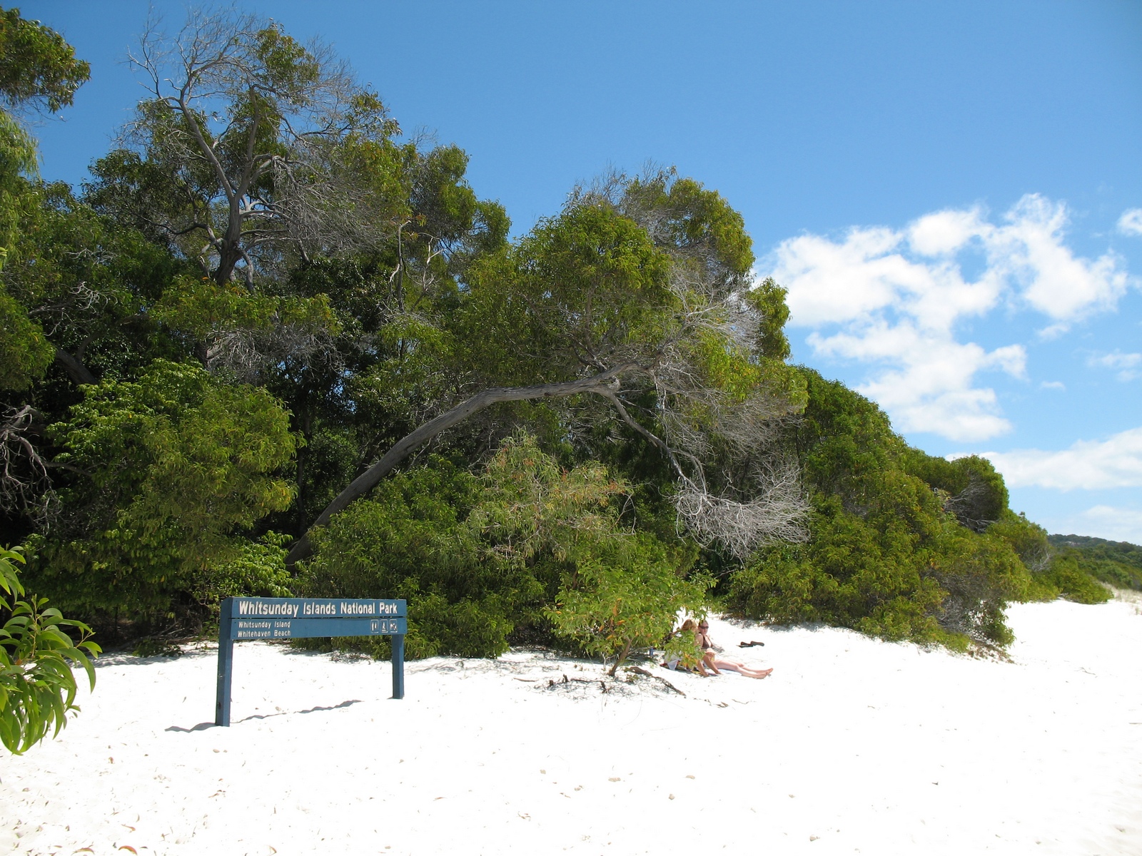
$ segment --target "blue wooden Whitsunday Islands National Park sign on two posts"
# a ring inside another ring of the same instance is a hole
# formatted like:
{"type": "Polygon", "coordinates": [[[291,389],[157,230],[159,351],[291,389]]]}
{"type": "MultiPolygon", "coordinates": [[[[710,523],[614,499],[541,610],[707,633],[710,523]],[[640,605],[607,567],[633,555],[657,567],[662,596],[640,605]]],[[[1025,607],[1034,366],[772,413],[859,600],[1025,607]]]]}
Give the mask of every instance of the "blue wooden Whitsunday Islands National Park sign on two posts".
{"type": "Polygon", "coordinates": [[[218,621],[215,725],[230,725],[234,643],[331,636],[393,637],[393,697],[404,697],[404,600],[332,597],[227,597],[218,621]]]}

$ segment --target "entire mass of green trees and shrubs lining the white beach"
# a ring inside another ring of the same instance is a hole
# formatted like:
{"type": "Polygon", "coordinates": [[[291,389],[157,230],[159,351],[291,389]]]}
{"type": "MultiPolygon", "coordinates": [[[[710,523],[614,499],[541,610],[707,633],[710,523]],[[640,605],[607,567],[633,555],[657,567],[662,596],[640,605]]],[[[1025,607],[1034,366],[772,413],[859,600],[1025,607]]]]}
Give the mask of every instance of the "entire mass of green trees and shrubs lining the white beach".
{"type": "MultiPolygon", "coordinates": [[[[786,292],[699,181],[608,176],[508,240],[465,152],[327,47],[234,10],[145,39],[78,195],[0,112],[0,522],[98,629],[403,597],[411,656],[613,669],[714,580],[742,614],[964,646],[1008,641],[1012,599],[1140,579],[789,365],[786,292]]],[[[70,104],[55,33],[9,11],[3,40],[10,106],[70,104]]]]}

